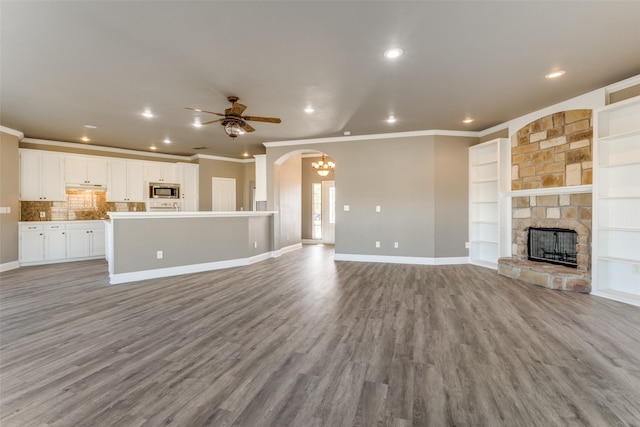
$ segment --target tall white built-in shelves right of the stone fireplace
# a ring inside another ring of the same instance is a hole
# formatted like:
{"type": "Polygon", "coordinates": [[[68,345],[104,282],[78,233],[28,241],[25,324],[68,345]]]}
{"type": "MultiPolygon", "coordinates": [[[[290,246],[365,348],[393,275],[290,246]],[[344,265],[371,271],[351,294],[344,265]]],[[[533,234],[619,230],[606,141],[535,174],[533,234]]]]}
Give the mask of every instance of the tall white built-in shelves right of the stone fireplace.
{"type": "Polygon", "coordinates": [[[597,111],[592,293],[640,305],[640,97],[597,111]]]}

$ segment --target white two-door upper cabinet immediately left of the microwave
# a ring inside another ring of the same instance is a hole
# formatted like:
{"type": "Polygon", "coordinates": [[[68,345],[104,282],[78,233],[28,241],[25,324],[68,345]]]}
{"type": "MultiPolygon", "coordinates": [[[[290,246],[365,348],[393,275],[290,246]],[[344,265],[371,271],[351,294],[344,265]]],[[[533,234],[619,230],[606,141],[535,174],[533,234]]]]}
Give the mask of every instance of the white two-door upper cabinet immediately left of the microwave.
{"type": "Polygon", "coordinates": [[[140,161],[109,162],[108,202],[144,202],[146,199],[145,164],[140,161]]]}

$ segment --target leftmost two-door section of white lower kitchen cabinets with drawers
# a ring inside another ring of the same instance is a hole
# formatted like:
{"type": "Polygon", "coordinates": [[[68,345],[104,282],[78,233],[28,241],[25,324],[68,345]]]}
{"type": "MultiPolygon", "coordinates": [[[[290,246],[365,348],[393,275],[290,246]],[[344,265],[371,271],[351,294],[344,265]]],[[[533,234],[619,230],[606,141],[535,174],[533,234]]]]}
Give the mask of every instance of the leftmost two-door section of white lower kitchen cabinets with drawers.
{"type": "Polygon", "coordinates": [[[55,262],[66,258],[62,223],[20,224],[20,263],[55,262]]]}

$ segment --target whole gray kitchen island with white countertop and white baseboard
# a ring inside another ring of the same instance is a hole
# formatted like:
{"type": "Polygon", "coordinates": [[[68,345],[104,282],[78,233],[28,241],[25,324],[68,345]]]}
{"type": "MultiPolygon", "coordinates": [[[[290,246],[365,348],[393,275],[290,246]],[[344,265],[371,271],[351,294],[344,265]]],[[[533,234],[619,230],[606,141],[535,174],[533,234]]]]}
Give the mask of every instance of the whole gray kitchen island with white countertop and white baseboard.
{"type": "Polygon", "coordinates": [[[109,281],[238,267],[276,256],[275,213],[108,212],[109,281]]]}

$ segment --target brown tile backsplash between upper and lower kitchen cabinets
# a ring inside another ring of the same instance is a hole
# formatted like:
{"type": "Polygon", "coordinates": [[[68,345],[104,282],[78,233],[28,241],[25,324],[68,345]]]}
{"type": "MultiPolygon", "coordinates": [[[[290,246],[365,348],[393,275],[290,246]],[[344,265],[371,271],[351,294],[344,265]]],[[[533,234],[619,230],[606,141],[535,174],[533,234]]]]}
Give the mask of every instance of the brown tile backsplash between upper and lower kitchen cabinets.
{"type": "Polygon", "coordinates": [[[107,202],[107,193],[104,191],[67,190],[64,202],[20,202],[20,220],[96,220],[106,219],[107,212],[144,212],[145,210],[143,202],[107,202]]]}

